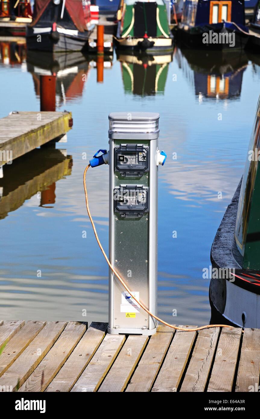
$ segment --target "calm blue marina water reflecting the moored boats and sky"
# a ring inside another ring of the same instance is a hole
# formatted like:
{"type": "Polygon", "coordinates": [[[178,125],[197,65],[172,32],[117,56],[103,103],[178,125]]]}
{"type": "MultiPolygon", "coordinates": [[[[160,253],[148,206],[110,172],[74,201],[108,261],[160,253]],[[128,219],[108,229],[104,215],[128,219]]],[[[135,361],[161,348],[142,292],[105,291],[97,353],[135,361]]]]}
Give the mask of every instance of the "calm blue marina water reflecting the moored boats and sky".
{"type": "MultiPolygon", "coordinates": [[[[159,59],[114,55],[97,83],[95,59],[80,54],[58,63],[37,54],[26,62],[15,44],[1,44],[1,52],[0,117],[39,110],[39,75],[51,69],[58,72],[57,110],[72,111],[74,124],[67,142],[56,145],[61,151],[35,150],[4,167],[0,318],[81,320],[85,309],[83,320],[108,320],[108,268],[86,214],[82,173],[108,148],[110,112],[152,111],[160,113],[160,149],[168,156],[159,168],[158,313],[177,324],[209,323],[202,269],[243,173],[260,59],[179,49],[159,59]]],[[[108,166],[90,170],[87,181],[108,251],[108,166]]]]}

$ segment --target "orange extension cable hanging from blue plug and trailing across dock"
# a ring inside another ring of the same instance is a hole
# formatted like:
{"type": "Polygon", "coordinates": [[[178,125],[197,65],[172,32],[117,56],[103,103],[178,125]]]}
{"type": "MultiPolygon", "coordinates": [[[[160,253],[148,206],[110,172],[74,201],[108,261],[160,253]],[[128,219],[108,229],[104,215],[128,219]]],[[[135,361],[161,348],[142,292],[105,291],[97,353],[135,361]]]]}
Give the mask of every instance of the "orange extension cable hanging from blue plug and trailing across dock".
{"type": "Polygon", "coordinates": [[[119,279],[119,281],[121,282],[121,284],[123,285],[123,287],[126,289],[126,291],[129,292],[129,294],[131,295],[132,298],[134,298],[134,300],[136,301],[136,303],[139,304],[140,307],[142,307],[142,309],[144,311],[146,311],[150,316],[152,316],[153,318],[155,318],[157,321],[160,321],[161,323],[165,324],[165,326],[169,326],[169,327],[171,327],[173,329],[176,329],[176,330],[183,330],[183,331],[195,332],[197,330],[208,329],[208,328],[211,328],[211,327],[229,327],[229,328],[232,328],[232,326],[227,326],[227,324],[207,324],[206,326],[197,327],[195,329],[185,329],[185,328],[182,328],[182,327],[173,326],[172,324],[169,324],[166,321],[162,320],[161,318],[155,316],[155,314],[152,314],[148,310],[148,308],[146,308],[145,305],[141,303],[141,301],[138,301],[137,298],[134,297],[134,295],[132,294],[132,292],[129,290],[128,286],[124,283],[123,279],[120,277],[120,275],[115,271],[115,269],[111,265],[108,257],[106,256],[106,253],[105,253],[105,251],[104,251],[104,249],[103,249],[103,247],[102,247],[102,245],[101,245],[101,243],[99,241],[98,233],[97,233],[97,230],[95,228],[95,224],[94,224],[94,221],[93,221],[93,219],[91,217],[90,209],[89,209],[89,206],[88,206],[88,192],[87,192],[87,186],[86,186],[86,173],[87,173],[89,167],[90,167],[90,164],[85,168],[84,175],[83,175],[83,184],[84,184],[84,191],[85,191],[85,198],[86,198],[86,207],[87,207],[87,211],[88,211],[88,216],[90,218],[90,222],[91,222],[92,227],[93,227],[93,230],[94,230],[95,238],[97,239],[98,246],[100,247],[101,252],[103,253],[103,255],[104,255],[104,257],[105,257],[105,259],[106,259],[106,261],[108,263],[108,266],[110,267],[111,271],[113,271],[113,273],[119,279]]]}

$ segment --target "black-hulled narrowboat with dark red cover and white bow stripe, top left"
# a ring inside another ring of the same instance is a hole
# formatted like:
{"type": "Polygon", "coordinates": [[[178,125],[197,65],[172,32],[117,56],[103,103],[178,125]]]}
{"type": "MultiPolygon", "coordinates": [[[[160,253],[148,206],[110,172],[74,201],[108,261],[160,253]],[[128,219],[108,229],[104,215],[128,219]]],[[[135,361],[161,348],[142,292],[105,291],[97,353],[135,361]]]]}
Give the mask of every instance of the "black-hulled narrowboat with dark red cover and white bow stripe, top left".
{"type": "Polygon", "coordinates": [[[49,52],[88,48],[90,8],[82,0],[36,0],[33,22],[26,28],[27,49],[49,52]]]}

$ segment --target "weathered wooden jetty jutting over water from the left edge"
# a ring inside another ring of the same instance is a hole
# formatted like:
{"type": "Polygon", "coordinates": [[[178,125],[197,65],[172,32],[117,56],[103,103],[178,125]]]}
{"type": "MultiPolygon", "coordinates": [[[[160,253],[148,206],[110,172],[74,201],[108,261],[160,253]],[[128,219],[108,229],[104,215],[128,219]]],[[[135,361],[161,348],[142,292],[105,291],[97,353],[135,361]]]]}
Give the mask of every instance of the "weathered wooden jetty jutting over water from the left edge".
{"type": "Polygon", "coordinates": [[[0,119],[0,166],[60,137],[71,127],[71,112],[11,112],[0,119]]]}

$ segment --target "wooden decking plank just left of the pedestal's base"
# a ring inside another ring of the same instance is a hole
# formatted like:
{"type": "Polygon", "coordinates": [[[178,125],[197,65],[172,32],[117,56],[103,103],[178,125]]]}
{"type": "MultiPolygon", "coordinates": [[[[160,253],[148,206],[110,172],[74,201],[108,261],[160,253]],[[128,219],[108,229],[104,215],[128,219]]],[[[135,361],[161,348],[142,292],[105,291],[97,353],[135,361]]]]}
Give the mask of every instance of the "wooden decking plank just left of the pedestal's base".
{"type": "Polygon", "coordinates": [[[70,391],[105,337],[108,323],[92,322],[45,391],[70,391]]]}

